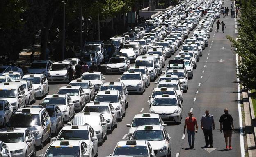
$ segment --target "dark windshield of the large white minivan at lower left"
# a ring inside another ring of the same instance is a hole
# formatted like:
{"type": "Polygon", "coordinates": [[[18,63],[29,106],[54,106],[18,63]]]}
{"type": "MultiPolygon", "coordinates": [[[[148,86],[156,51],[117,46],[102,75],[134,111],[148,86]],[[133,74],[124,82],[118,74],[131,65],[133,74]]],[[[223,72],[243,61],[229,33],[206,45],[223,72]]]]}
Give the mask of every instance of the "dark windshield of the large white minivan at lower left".
{"type": "Polygon", "coordinates": [[[34,126],[40,126],[38,114],[14,114],[7,124],[9,128],[30,128],[34,126]]]}

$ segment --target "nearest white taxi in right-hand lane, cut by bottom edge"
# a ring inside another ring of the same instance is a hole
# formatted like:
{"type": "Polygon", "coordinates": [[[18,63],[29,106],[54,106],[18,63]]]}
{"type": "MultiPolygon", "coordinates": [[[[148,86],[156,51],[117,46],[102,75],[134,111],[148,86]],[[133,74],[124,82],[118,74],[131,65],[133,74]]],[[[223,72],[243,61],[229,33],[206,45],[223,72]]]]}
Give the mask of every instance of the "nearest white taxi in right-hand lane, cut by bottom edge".
{"type": "Polygon", "coordinates": [[[155,157],[151,144],[143,140],[119,141],[113,151],[113,156],[128,155],[135,157],[155,157]]]}

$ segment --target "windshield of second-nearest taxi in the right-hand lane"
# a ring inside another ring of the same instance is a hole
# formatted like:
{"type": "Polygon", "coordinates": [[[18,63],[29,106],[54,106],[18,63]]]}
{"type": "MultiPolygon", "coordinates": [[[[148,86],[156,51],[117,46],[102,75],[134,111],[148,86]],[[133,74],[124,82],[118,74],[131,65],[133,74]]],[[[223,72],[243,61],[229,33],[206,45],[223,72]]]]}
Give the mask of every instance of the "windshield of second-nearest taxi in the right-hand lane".
{"type": "Polygon", "coordinates": [[[165,140],[165,137],[161,130],[141,130],[141,131],[135,131],[133,133],[132,139],[162,141],[162,140],[165,140]]]}

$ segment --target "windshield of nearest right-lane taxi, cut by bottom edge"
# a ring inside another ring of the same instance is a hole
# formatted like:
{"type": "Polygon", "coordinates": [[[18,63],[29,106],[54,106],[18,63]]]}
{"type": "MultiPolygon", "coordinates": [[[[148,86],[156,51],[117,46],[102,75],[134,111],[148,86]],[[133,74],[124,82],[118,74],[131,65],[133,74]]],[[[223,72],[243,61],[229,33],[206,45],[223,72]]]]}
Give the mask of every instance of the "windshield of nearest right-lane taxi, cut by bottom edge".
{"type": "Polygon", "coordinates": [[[113,155],[127,155],[133,157],[148,157],[148,149],[146,146],[117,146],[113,155]]]}

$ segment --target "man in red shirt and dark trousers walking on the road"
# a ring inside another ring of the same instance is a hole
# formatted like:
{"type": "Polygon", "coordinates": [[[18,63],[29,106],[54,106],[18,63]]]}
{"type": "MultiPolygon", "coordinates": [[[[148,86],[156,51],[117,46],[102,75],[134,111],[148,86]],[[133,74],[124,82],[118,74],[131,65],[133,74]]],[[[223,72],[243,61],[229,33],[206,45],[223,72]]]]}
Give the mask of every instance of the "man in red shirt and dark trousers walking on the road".
{"type": "Polygon", "coordinates": [[[198,125],[197,125],[197,119],[195,117],[192,117],[192,112],[188,113],[188,116],[185,119],[185,125],[184,125],[184,131],[183,134],[185,134],[185,130],[187,127],[187,136],[188,136],[188,144],[190,146],[190,149],[194,148],[194,133],[197,133],[198,125]],[[196,130],[195,130],[196,126],[196,130]],[[191,143],[191,137],[192,137],[192,143],[191,143]]]}

